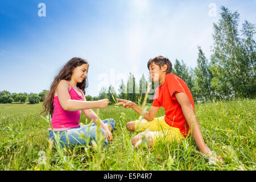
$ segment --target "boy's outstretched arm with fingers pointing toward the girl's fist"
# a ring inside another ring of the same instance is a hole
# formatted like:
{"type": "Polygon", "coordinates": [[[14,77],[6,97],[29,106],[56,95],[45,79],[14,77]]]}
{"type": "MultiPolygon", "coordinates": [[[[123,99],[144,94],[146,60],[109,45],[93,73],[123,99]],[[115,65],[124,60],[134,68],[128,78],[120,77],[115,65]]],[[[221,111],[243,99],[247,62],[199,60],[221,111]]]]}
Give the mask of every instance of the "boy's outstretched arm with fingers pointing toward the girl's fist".
{"type": "MultiPolygon", "coordinates": [[[[133,110],[135,110],[139,115],[143,114],[141,107],[137,106],[134,102],[120,99],[120,98],[117,98],[117,100],[121,101],[121,102],[115,104],[116,106],[123,105],[123,107],[126,107],[126,108],[133,108],[133,110]]],[[[144,115],[144,119],[146,119],[147,121],[152,121],[154,119],[155,115],[158,113],[159,109],[160,109],[160,107],[151,106],[150,110],[146,111],[146,113],[144,115]]]]}

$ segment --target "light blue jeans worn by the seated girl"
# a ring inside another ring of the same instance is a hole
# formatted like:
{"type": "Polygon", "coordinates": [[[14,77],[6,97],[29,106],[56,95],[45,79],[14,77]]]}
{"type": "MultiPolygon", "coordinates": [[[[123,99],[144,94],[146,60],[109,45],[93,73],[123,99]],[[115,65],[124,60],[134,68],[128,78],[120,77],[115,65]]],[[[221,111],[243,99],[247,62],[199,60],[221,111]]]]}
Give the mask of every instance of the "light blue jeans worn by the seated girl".
{"type": "MultiPolygon", "coordinates": [[[[114,119],[104,119],[102,120],[105,124],[108,124],[113,127],[113,130],[115,129],[115,121],[114,119]]],[[[78,145],[83,144],[92,144],[92,140],[96,140],[96,130],[97,125],[95,123],[92,123],[92,125],[83,125],[79,127],[75,127],[73,129],[64,130],[64,131],[49,131],[49,139],[53,139],[55,142],[55,138],[53,135],[53,132],[57,135],[60,135],[60,145],[61,147],[74,147],[78,145]],[[81,137],[81,134],[85,135],[85,138],[81,137]]],[[[106,138],[105,131],[101,128],[101,133],[105,135],[105,146],[108,146],[108,139],[106,138]]]]}

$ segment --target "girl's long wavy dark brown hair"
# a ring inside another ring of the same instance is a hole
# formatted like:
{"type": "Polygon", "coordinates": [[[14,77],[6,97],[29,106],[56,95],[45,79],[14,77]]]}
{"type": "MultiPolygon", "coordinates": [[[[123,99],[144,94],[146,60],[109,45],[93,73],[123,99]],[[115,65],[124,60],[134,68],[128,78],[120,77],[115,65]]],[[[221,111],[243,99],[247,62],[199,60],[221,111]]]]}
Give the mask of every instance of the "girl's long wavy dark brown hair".
{"type": "MultiPolygon", "coordinates": [[[[49,90],[46,98],[44,99],[44,103],[43,103],[44,110],[42,111],[42,113],[46,113],[46,114],[49,113],[52,116],[52,114],[53,114],[53,97],[55,94],[55,89],[59,85],[59,82],[61,80],[70,81],[71,76],[73,74],[73,70],[82,64],[88,64],[88,61],[86,61],[85,59],[81,59],[80,57],[73,57],[71,60],[68,61],[67,64],[64,65],[64,67],[61,69],[59,74],[54,78],[54,80],[51,84],[51,89],[49,90]]],[[[89,68],[89,64],[88,64],[88,68],[89,68]]],[[[85,94],[85,88],[87,88],[87,86],[88,86],[87,77],[81,83],[77,83],[76,86],[79,89],[81,89],[82,92],[84,92],[84,94],[85,94]]],[[[42,113],[40,113],[40,114],[42,114],[42,113]]]]}

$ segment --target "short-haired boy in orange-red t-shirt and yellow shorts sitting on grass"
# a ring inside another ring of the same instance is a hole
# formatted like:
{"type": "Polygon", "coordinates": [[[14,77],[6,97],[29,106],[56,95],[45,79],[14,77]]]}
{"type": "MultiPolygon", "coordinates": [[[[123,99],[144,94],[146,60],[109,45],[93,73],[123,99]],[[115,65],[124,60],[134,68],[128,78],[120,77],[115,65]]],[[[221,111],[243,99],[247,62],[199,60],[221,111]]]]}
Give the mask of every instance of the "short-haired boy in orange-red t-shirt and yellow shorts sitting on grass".
{"type": "MultiPolygon", "coordinates": [[[[148,139],[148,147],[152,147],[156,139],[161,138],[170,142],[174,139],[181,141],[190,134],[189,129],[192,129],[192,135],[200,152],[211,154],[209,147],[204,143],[196,119],[192,94],[187,84],[180,77],[171,73],[171,61],[166,57],[157,56],[148,61],[147,67],[152,81],[159,82],[160,86],[155,90],[153,104],[144,115],[144,119],[141,122],[139,120],[131,121],[126,125],[128,130],[144,131],[131,139],[133,146],[141,146],[143,137],[148,139]],[[165,115],[164,117],[155,118],[161,106],[164,107],[165,115]]],[[[134,102],[117,100],[121,102],[115,105],[133,108],[138,114],[142,115],[142,109],[134,102]]],[[[213,156],[210,158],[222,162],[221,158],[213,158],[213,156]]]]}

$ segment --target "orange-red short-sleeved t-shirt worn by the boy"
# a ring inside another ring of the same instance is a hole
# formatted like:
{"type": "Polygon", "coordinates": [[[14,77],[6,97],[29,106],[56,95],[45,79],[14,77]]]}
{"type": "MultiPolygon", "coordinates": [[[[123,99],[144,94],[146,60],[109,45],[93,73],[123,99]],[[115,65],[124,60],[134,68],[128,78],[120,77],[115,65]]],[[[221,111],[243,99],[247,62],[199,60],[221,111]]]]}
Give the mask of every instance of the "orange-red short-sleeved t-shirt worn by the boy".
{"type": "Polygon", "coordinates": [[[189,126],[183,115],[181,106],[176,100],[175,92],[186,93],[195,110],[193,97],[187,84],[180,77],[172,73],[168,73],[164,78],[164,84],[156,88],[152,106],[164,107],[164,111],[166,112],[164,121],[171,127],[179,128],[180,133],[185,137],[188,134],[189,126]]]}

